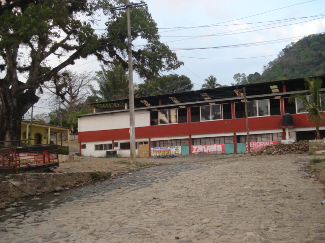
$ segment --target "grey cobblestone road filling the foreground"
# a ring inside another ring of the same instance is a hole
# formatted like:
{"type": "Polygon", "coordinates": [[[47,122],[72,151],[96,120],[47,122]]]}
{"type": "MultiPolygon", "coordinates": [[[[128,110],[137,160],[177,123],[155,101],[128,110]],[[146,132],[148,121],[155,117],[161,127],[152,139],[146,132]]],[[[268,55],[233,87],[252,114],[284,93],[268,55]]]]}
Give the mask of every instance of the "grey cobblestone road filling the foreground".
{"type": "Polygon", "coordinates": [[[279,155],[151,167],[91,196],[0,223],[0,239],[325,242],[322,185],[298,171],[307,160],[279,155]]]}

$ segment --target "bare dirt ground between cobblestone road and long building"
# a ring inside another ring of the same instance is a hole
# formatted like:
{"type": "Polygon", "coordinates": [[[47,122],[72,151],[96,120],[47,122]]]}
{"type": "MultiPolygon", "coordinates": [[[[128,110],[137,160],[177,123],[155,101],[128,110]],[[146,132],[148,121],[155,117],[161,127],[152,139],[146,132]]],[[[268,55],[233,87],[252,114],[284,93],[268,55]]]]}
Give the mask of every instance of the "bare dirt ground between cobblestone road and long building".
{"type": "MultiPolygon", "coordinates": [[[[67,141],[63,141],[63,145],[67,145],[67,141]]],[[[79,151],[78,138],[72,138],[70,140],[71,153],[77,153],[79,151]]],[[[308,162],[313,158],[325,158],[325,154],[313,154],[306,155],[306,165],[301,168],[305,172],[309,173],[309,177],[314,178],[316,181],[320,181],[325,186],[325,162],[310,165],[308,162]]],[[[182,155],[174,158],[137,158],[136,164],[130,164],[129,158],[96,158],[96,157],[83,157],[76,156],[75,161],[72,163],[60,163],[59,168],[55,169],[57,173],[63,172],[111,172],[112,174],[125,174],[132,170],[137,170],[146,166],[152,165],[164,165],[173,163],[186,163],[190,161],[211,161],[215,159],[270,159],[274,157],[276,159],[278,155],[257,155],[251,156],[250,154],[220,154],[209,155],[206,153],[182,155]]],[[[294,157],[294,154],[288,154],[288,158],[294,157]]],[[[280,166],[280,165],[279,165],[280,166]]],[[[324,189],[325,191],[325,189],[324,189]]]]}

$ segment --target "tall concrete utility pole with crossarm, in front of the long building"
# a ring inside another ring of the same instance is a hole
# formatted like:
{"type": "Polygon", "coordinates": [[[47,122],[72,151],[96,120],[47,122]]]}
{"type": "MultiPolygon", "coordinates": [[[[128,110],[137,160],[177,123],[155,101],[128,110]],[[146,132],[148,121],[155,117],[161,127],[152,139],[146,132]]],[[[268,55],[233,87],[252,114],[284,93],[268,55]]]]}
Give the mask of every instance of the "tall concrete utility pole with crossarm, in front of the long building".
{"type": "Polygon", "coordinates": [[[145,3],[130,5],[129,0],[125,1],[125,6],[111,8],[111,12],[117,10],[126,10],[127,22],[127,55],[128,55],[128,96],[129,96],[129,111],[130,111],[130,163],[136,163],[136,126],[134,115],[134,88],[133,88],[133,61],[132,61],[132,38],[131,38],[131,8],[146,6],[145,3]]]}

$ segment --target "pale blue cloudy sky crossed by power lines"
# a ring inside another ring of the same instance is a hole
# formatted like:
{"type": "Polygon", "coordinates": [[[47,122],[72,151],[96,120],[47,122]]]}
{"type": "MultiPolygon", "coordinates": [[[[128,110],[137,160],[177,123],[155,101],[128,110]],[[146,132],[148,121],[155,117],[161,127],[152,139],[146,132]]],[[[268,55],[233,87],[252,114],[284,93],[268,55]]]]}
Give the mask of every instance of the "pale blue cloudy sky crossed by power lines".
{"type": "MultiPolygon", "coordinates": [[[[263,66],[273,61],[285,46],[309,34],[325,32],[324,0],[144,2],[157,23],[160,42],[184,63],[179,69],[162,74],[189,77],[193,90],[200,90],[209,75],[215,76],[218,84],[230,86],[235,83],[236,73],[262,74],[263,66]]],[[[135,50],[141,45],[141,40],[133,43],[135,50]]],[[[100,63],[89,57],[68,69],[98,71],[100,63]]],[[[134,83],[143,81],[134,73],[134,83]]],[[[37,107],[38,104],[34,112],[47,113],[50,108],[37,107]]]]}

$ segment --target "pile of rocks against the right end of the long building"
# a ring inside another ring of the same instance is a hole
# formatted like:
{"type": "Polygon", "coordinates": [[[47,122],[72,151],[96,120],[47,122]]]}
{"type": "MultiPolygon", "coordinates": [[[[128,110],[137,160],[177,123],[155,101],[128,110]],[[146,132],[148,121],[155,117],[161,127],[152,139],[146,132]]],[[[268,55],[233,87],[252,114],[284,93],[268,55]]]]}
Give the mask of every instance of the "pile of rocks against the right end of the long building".
{"type": "Polygon", "coordinates": [[[291,153],[305,153],[309,150],[308,140],[302,140],[291,144],[272,144],[265,146],[251,155],[274,155],[274,154],[291,154],[291,153]]]}

